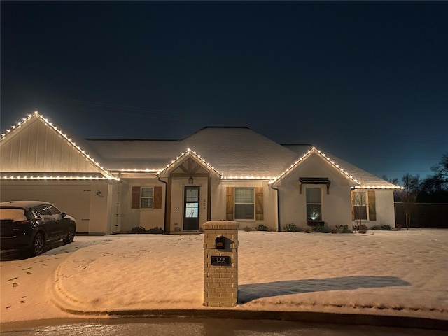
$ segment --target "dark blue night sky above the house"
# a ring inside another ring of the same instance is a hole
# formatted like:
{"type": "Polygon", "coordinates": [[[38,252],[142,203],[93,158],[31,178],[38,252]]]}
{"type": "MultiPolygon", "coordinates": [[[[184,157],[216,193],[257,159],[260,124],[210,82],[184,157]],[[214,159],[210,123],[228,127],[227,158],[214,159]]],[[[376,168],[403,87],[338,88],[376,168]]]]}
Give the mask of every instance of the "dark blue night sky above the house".
{"type": "Polygon", "coordinates": [[[1,1],[1,130],[247,126],[377,176],[448,152],[446,1],[1,1]]]}

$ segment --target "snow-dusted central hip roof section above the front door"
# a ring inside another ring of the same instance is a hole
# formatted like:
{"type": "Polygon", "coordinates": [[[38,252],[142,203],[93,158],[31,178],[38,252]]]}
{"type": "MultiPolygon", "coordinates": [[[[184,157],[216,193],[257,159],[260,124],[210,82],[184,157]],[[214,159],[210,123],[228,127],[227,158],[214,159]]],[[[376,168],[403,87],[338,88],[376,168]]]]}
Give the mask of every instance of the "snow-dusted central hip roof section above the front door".
{"type": "Polygon", "coordinates": [[[190,149],[223,174],[223,179],[272,179],[297,154],[246,127],[205,127],[179,141],[89,140],[108,169],[157,171],[190,149]]]}

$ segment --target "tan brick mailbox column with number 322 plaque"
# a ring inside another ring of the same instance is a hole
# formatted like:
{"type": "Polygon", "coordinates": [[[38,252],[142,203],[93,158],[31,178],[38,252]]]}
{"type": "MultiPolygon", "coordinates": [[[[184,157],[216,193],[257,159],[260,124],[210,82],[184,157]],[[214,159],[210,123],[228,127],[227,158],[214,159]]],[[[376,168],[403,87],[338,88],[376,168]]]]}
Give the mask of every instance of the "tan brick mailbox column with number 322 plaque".
{"type": "Polygon", "coordinates": [[[204,306],[235,307],[238,302],[238,225],[209,221],[204,229],[204,306]]]}

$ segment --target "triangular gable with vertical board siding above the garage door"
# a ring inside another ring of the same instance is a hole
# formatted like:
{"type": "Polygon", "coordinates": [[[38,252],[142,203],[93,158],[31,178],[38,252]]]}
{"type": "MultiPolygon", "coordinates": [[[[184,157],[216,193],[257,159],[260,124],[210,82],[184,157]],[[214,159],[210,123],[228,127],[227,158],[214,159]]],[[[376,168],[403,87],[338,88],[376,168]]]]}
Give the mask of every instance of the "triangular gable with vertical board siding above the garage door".
{"type": "Polygon", "coordinates": [[[38,112],[1,134],[0,145],[2,179],[116,179],[38,112]]]}

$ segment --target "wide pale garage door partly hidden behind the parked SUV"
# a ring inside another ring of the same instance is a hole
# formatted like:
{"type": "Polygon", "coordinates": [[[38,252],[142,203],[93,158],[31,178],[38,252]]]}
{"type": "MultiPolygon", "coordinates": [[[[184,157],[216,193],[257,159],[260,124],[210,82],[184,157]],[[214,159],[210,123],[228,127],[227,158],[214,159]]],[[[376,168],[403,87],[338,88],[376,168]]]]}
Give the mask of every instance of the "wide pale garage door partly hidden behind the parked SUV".
{"type": "Polygon", "coordinates": [[[90,185],[24,185],[1,186],[1,202],[5,201],[45,201],[55,204],[76,220],[76,232],[89,232],[90,185]]]}

